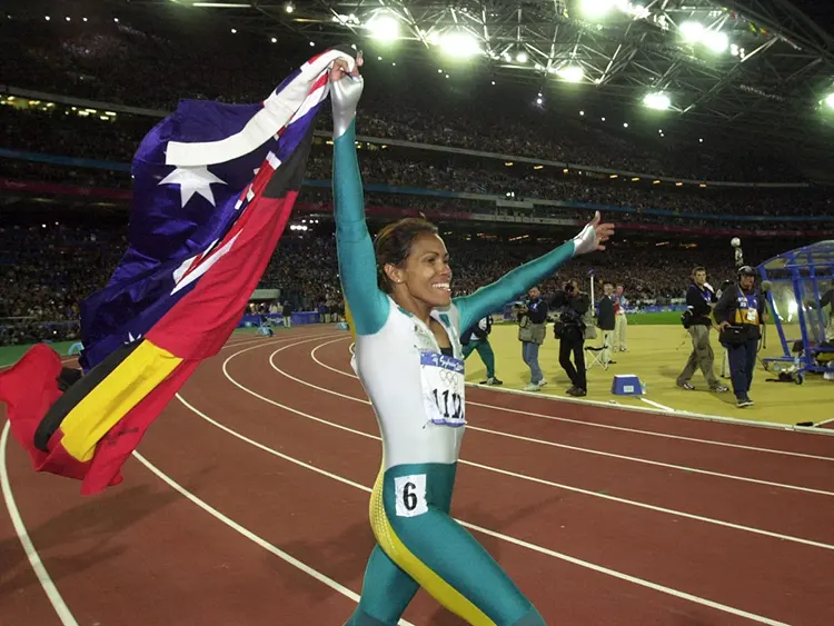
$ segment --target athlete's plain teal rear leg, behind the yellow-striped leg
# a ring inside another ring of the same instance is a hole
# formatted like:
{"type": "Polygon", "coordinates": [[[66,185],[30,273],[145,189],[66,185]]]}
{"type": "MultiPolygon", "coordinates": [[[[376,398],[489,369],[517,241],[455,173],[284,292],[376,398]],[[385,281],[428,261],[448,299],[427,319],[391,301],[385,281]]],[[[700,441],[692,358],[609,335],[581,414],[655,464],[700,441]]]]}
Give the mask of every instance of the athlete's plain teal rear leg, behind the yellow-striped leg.
{"type": "Polygon", "coordinates": [[[396,626],[419,585],[377,545],[365,568],[359,606],[345,626],[396,626]]]}

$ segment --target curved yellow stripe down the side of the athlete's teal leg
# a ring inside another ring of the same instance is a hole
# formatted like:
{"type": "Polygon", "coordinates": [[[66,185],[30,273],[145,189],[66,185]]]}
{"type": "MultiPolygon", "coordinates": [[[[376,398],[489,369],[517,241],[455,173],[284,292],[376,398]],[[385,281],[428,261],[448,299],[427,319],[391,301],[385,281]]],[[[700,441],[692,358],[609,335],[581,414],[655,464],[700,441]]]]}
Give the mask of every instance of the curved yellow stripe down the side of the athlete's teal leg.
{"type": "Polygon", "coordinates": [[[471,626],[496,626],[483,610],[417,558],[394,531],[383,504],[384,475],[385,461],[370,494],[370,527],[385,554],[431,597],[471,626]]]}

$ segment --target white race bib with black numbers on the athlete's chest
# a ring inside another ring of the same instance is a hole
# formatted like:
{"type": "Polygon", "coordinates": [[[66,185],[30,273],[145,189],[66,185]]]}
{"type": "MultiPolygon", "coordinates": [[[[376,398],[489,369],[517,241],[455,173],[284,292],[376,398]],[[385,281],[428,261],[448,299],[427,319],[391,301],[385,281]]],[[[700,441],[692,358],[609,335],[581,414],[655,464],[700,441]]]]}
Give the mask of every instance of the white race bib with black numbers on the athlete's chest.
{"type": "Polygon", "coordinates": [[[420,351],[423,404],[434,424],[466,424],[464,361],[428,350],[420,351]]]}

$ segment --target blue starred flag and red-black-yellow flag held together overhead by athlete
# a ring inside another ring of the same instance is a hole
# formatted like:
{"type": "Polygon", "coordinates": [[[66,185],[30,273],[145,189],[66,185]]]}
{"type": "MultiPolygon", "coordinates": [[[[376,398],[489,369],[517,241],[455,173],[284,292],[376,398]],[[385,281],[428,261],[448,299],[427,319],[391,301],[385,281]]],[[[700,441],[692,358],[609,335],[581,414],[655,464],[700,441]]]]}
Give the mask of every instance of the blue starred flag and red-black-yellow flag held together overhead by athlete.
{"type": "Polygon", "coordinates": [[[85,375],[44,344],[0,374],[36,470],[83,495],[122,481],[148,426],[237,327],[298,197],[329,69],[355,57],[314,57],[257,105],[183,100],[145,137],[129,247],[81,305],[85,375]]]}

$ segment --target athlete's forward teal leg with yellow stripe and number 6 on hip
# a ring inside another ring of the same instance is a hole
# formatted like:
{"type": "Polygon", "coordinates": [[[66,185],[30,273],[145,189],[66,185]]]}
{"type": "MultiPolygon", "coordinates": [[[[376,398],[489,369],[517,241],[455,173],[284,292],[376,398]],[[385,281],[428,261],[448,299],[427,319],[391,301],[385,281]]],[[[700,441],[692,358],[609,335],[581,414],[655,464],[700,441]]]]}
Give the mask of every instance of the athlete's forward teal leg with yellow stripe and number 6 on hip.
{"type": "Polygon", "coordinates": [[[388,469],[371,509],[377,540],[391,560],[469,624],[544,626],[495,559],[449,517],[455,471],[455,465],[444,464],[388,469]]]}

